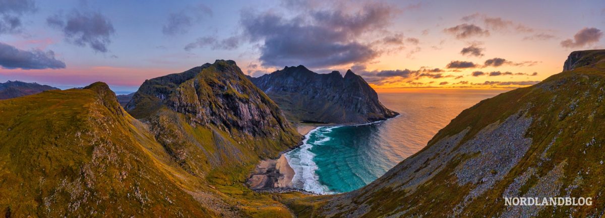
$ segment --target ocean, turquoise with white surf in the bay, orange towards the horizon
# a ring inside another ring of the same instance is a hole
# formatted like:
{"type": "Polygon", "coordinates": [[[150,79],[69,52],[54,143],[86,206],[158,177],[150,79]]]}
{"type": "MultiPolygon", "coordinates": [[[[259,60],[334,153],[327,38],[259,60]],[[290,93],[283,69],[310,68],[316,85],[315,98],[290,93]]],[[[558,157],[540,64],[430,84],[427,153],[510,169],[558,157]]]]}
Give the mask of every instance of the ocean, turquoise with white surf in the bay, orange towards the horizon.
{"type": "Polygon", "coordinates": [[[295,188],[317,194],[353,191],[418,152],[464,109],[502,90],[379,93],[399,116],[355,126],[311,130],[302,146],[286,153],[295,188]]]}

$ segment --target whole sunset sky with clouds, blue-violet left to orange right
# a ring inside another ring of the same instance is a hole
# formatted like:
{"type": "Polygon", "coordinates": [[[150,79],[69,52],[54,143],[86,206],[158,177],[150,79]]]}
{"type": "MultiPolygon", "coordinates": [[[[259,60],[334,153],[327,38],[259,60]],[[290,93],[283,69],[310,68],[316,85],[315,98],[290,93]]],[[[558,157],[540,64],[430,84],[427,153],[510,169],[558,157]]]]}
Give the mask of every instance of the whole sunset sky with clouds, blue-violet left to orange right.
{"type": "Polygon", "coordinates": [[[605,48],[605,1],[0,0],[0,82],[119,94],[217,59],[352,69],[378,92],[511,89],[605,48]]]}

